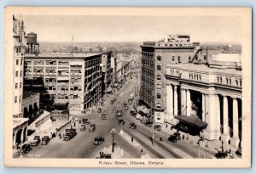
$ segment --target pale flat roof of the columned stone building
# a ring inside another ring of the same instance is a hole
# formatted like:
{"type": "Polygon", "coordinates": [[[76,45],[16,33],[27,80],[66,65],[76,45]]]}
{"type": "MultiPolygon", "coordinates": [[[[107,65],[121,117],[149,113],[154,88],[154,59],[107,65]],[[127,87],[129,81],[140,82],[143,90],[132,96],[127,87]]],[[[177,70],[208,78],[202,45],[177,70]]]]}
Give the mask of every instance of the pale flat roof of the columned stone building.
{"type": "Polygon", "coordinates": [[[201,72],[211,72],[211,73],[223,73],[223,74],[230,74],[230,75],[237,75],[241,76],[241,70],[231,69],[231,68],[210,68],[207,65],[195,65],[195,64],[167,64],[166,68],[173,67],[178,68],[181,70],[195,70],[201,72]]]}

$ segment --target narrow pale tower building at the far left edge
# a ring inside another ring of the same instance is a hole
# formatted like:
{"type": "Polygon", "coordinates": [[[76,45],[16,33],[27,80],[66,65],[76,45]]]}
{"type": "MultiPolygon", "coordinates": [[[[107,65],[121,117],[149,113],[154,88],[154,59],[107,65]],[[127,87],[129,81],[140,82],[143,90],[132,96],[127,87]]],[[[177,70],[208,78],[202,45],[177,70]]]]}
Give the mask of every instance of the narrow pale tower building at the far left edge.
{"type": "Polygon", "coordinates": [[[22,98],[23,98],[23,65],[24,54],[26,52],[26,33],[24,22],[13,16],[13,148],[16,149],[20,143],[26,141],[28,119],[23,118],[22,98]]]}

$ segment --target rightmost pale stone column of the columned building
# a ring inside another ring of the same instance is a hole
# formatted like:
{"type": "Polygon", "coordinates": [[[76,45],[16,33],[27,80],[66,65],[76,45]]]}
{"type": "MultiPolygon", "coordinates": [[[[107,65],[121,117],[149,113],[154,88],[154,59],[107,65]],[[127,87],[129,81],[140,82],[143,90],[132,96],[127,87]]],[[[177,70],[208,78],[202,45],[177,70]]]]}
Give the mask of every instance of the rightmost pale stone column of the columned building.
{"type": "Polygon", "coordinates": [[[238,102],[233,98],[233,140],[234,145],[238,148],[239,144],[239,130],[238,130],[238,102]]]}

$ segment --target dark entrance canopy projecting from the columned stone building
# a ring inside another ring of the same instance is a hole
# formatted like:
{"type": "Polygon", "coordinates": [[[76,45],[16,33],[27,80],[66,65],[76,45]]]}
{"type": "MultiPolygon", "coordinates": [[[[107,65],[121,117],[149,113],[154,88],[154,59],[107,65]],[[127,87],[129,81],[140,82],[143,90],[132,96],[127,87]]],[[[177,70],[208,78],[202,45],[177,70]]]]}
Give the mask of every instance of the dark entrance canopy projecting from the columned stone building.
{"type": "Polygon", "coordinates": [[[187,123],[191,126],[195,126],[198,128],[205,128],[208,125],[207,122],[201,121],[200,118],[198,118],[198,116],[196,116],[196,115],[191,115],[191,116],[177,115],[174,117],[177,118],[181,122],[187,123]]]}

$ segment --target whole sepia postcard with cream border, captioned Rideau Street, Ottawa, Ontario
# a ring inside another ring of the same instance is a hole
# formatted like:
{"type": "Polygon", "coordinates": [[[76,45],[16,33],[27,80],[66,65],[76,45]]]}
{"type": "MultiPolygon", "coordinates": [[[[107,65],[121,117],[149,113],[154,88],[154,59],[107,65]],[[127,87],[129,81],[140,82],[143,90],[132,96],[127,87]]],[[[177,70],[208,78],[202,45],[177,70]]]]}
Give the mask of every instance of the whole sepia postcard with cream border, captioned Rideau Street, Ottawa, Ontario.
{"type": "Polygon", "coordinates": [[[250,166],[251,8],[7,7],[4,33],[7,166],[250,166]]]}

